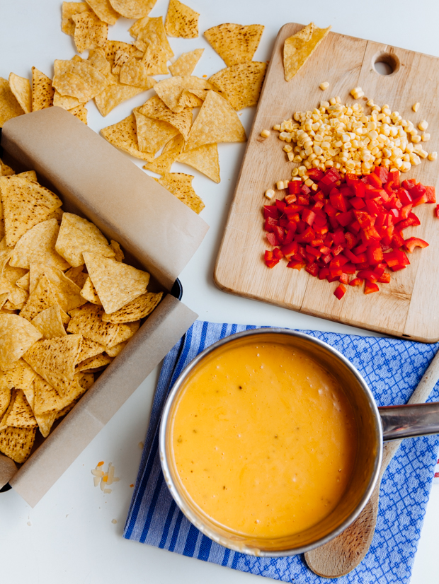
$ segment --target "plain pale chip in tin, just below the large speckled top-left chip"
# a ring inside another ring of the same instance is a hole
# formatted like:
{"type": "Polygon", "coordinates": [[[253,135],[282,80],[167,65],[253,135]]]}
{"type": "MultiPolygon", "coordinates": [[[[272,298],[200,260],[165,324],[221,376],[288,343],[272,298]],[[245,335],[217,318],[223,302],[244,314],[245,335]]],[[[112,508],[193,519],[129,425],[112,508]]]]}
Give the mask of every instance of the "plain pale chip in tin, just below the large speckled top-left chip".
{"type": "Polygon", "coordinates": [[[59,225],[56,219],[47,219],[35,225],[18,240],[9,265],[28,269],[30,262],[36,262],[61,270],[67,269],[69,264],[55,251],[58,232],[59,225]]]}

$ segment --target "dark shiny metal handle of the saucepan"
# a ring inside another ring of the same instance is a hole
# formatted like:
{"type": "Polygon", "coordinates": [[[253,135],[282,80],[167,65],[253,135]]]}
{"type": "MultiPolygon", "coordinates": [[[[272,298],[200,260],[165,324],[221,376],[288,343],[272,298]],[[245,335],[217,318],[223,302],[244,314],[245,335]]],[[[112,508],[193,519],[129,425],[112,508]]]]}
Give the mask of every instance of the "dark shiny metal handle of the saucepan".
{"type": "Polygon", "coordinates": [[[439,434],[439,402],[378,408],[383,440],[439,434]]]}

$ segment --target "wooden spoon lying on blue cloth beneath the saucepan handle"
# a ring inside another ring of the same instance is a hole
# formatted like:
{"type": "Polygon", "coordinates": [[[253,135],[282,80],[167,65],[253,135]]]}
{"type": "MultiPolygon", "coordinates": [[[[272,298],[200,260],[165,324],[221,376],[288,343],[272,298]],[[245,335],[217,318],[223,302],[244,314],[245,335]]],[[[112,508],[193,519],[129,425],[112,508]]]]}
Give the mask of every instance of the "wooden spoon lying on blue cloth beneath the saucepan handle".
{"type": "MultiPolygon", "coordinates": [[[[439,380],[439,351],[424,373],[418,387],[414,390],[408,404],[421,404],[431,394],[439,380]]],[[[384,443],[382,464],[375,489],[372,491],[365,508],[358,518],[346,529],[321,547],[308,551],[305,560],[309,568],[318,576],[324,578],[339,578],[345,576],[358,566],[369,550],[375,532],[378,514],[378,499],[380,484],[387,465],[396,454],[401,440],[384,443]]]]}

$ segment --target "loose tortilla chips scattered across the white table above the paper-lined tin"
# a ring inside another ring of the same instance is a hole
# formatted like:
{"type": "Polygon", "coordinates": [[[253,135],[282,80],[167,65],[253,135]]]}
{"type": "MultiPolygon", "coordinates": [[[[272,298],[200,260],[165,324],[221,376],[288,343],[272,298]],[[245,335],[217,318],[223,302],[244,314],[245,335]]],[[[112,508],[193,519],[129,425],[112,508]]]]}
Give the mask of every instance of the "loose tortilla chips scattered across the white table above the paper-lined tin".
{"type": "Polygon", "coordinates": [[[156,96],[101,134],[160,175],[166,189],[199,213],[203,201],[192,175],[171,173],[173,162],[192,166],[220,182],[217,144],[240,142],[246,134],[236,111],[256,105],[266,63],[254,62],[262,25],[222,24],[205,37],[227,67],[209,80],[192,76],[204,49],[173,59],[169,37],[198,37],[198,12],[178,0],[169,2],[166,18],[149,17],[156,0],[87,0],[63,2],[61,28],[79,53],[56,59],[50,79],[35,67],[31,82],[11,73],[0,78],[0,127],[11,117],[57,105],[87,123],[86,103],[94,100],[106,116],[120,103],[154,87],[156,96]],[[108,26],[119,16],[137,19],[129,29],[133,42],[108,40],[108,26]],[[155,75],[171,77],[157,83],[155,75]],[[194,108],[200,107],[192,123],[194,108]]]}

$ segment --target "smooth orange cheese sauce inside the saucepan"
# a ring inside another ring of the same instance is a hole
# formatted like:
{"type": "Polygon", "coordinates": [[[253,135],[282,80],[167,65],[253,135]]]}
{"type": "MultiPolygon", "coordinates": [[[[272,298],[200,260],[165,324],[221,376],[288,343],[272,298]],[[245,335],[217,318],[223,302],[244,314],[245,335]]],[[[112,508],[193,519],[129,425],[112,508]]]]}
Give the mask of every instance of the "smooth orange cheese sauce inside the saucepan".
{"type": "Polygon", "coordinates": [[[292,535],[341,500],[357,451],[350,403],[304,352],[234,344],[186,380],[172,418],[183,488],[210,518],[253,537],[292,535]]]}

